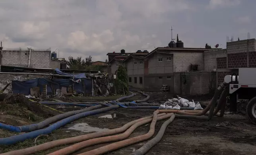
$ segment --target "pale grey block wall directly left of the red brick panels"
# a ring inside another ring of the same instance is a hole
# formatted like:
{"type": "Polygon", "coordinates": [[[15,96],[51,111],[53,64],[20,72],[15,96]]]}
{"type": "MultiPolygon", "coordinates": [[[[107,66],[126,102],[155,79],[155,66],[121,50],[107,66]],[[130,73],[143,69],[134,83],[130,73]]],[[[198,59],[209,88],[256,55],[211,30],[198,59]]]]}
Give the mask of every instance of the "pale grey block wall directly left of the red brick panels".
{"type": "Polygon", "coordinates": [[[204,70],[213,71],[214,68],[217,69],[217,59],[221,57],[227,57],[227,51],[225,49],[221,49],[217,51],[205,51],[204,52],[204,70]]]}

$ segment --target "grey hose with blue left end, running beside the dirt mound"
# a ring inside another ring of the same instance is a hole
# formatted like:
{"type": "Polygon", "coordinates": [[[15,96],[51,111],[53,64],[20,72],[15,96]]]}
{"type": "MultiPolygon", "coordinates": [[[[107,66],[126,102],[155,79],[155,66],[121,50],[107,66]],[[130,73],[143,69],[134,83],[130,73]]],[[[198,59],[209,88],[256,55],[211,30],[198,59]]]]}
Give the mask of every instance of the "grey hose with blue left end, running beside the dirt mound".
{"type": "Polygon", "coordinates": [[[78,113],[88,112],[88,111],[95,110],[98,108],[101,108],[101,105],[91,106],[89,108],[85,108],[82,110],[76,110],[76,111],[62,113],[60,115],[56,115],[56,116],[50,117],[48,119],[45,119],[44,121],[41,121],[37,124],[23,125],[23,126],[18,126],[18,127],[0,123],[0,128],[10,130],[10,131],[15,131],[15,132],[30,132],[30,131],[42,129],[43,127],[46,127],[47,125],[49,125],[53,122],[56,122],[60,119],[64,119],[66,117],[70,117],[70,116],[76,115],[78,113]]]}

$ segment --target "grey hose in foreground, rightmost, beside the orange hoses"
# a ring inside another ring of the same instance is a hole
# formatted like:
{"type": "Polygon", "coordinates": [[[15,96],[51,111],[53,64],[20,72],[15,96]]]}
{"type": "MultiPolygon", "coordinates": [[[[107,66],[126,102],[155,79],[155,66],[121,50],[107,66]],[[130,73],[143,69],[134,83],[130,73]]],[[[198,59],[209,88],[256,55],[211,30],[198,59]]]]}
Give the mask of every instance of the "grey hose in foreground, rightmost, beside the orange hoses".
{"type": "Polygon", "coordinates": [[[153,139],[149,140],[146,144],[144,144],[144,146],[140,147],[140,149],[132,153],[131,155],[144,155],[147,151],[149,151],[149,149],[155,146],[155,144],[157,144],[163,138],[165,129],[170,123],[173,122],[174,118],[175,118],[175,115],[174,113],[172,113],[172,116],[170,117],[170,119],[168,119],[167,121],[165,121],[165,123],[163,123],[157,135],[153,139]]]}

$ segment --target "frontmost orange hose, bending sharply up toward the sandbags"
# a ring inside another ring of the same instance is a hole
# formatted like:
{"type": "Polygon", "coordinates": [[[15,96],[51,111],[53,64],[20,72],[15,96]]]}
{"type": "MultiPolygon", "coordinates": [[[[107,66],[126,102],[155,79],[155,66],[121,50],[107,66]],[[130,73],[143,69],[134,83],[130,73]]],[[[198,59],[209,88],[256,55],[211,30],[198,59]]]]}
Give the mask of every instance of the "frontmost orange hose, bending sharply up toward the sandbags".
{"type": "MultiPolygon", "coordinates": [[[[115,142],[115,143],[112,143],[112,144],[109,144],[109,145],[106,145],[106,146],[103,146],[103,147],[99,147],[97,149],[93,149],[91,151],[81,153],[79,155],[102,155],[104,153],[113,151],[115,149],[119,149],[119,148],[122,148],[122,147],[125,147],[125,146],[129,146],[131,144],[135,144],[135,143],[138,143],[138,142],[141,142],[141,141],[144,141],[144,140],[147,140],[147,139],[151,138],[153,136],[154,132],[155,132],[155,123],[157,122],[157,114],[158,113],[159,113],[158,110],[153,112],[153,119],[152,119],[152,122],[150,124],[150,129],[149,129],[149,132],[147,132],[146,134],[141,135],[141,136],[136,136],[136,137],[133,137],[133,138],[129,138],[129,139],[126,139],[126,140],[122,140],[122,141],[119,141],[119,142],[115,142]]],[[[168,115],[168,117],[171,117],[171,115],[173,115],[173,114],[170,113],[170,114],[167,114],[167,115],[168,115]]]]}

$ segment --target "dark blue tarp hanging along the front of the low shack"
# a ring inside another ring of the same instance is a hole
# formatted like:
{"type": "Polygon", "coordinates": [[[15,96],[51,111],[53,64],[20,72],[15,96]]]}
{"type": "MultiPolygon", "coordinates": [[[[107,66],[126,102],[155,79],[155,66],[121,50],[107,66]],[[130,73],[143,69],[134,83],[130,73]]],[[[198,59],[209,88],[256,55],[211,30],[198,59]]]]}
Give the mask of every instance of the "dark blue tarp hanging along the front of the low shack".
{"type": "MultiPolygon", "coordinates": [[[[80,78],[81,79],[81,78],[80,78]]],[[[75,79],[77,80],[77,79],[75,79]]],[[[85,93],[91,93],[92,91],[92,79],[81,79],[85,83],[85,93]]],[[[83,93],[83,82],[74,83],[74,89],[77,93],[83,93]]],[[[12,81],[12,91],[15,94],[29,95],[32,87],[40,87],[40,92],[43,92],[43,85],[47,85],[47,93],[52,93],[52,87],[54,89],[60,89],[61,87],[68,87],[72,85],[71,79],[46,79],[37,78],[27,81],[12,81]]]]}

